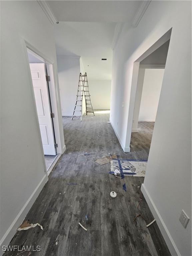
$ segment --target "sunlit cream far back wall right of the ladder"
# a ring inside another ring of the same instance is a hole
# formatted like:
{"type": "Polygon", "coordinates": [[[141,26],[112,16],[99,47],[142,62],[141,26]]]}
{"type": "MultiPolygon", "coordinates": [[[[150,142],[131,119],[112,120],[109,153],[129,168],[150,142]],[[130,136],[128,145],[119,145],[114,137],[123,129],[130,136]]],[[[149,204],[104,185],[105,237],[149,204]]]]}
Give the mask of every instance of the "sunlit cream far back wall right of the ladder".
{"type": "Polygon", "coordinates": [[[110,109],[111,81],[88,80],[93,109],[110,109]]]}

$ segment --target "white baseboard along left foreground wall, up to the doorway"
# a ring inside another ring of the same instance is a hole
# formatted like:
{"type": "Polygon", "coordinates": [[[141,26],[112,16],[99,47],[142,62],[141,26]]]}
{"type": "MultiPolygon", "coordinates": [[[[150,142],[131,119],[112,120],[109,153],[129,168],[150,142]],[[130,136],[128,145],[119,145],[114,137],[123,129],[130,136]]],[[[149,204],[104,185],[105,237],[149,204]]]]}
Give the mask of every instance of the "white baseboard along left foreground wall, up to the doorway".
{"type": "MultiPolygon", "coordinates": [[[[2,245],[9,245],[9,243],[10,243],[11,239],[13,238],[13,236],[15,235],[18,227],[21,225],[21,223],[25,219],[25,216],[29,212],[30,208],[32,207],[33,203],[37,199],[39,193],[41,192],[42,188],[44,187],[44,185],[46,184],[47,181],[48,181],[48,176],[46,173],[43,176],[42,180],[37,185],[36,189],[33,191],[31,196],[29,197],[29,199],[27,200],[27,202],[24,204],[21,211],[18,213],[18,215],[12,222],[11,226],[8,228],[7,232],[2,237],[2,239],[0,241],[0,247],[2,245]]],[[[2,255],[2,254],[3,254],[3,251],[0,250],[0,255],[2,255]]]]}

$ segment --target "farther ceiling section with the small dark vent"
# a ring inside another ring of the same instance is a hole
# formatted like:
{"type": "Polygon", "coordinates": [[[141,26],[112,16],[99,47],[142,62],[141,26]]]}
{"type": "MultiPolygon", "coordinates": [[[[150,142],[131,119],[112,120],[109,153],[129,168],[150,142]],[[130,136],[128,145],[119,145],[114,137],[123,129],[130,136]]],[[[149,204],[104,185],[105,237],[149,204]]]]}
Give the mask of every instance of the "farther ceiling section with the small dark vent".
{"type": "Polygon", "coordinates": [[[115,23],[60,22],[55,25],[56,53],[81,56],[89,79],[111,80],[114,29],[115,23]]]}

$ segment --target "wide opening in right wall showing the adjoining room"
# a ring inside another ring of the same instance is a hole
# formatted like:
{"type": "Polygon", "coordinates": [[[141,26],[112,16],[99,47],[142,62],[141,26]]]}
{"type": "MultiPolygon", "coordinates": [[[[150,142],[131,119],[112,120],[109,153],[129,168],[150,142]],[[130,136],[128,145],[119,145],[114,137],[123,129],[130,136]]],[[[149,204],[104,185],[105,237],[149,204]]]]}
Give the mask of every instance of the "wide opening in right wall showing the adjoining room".
{"type": "Polygon", "coordinates": [[[130,151],[148,160],[169,48],[167,40],[139,63],[130,151]]]}

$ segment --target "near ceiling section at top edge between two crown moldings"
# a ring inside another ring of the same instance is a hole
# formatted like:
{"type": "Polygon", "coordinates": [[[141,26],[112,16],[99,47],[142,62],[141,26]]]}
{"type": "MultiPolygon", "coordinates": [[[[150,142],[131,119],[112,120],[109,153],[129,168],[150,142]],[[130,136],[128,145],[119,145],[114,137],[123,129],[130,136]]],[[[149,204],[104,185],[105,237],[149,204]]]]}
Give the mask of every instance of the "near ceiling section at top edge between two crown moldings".
{"type": "Polygon", "coordinates": [[[142,1],[48,1],[58,21],[131,22],[142,1]]]}

